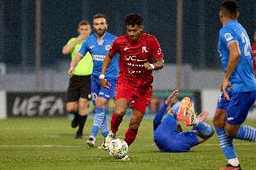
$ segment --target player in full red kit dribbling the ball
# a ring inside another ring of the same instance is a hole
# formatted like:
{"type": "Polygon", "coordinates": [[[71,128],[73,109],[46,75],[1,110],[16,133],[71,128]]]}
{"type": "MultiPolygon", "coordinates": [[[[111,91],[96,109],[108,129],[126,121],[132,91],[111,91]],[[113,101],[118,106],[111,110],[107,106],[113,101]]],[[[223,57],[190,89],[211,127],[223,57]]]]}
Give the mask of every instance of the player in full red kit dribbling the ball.
{"type": "Polygon", "coordinates": [[[133,143],[146,107],[151,103],[152,70],[164,66],[160,44],[154,36],[142,32],[142,21],[142,16],[137,13],[126,16],[127,34],[114,40],[111,49],[105,56],[104,66],[99,76],[101,85],[109,88],[108,82],[105,80],[105,70],[111,63],[114,54],[119,53],[120,73],[115,89],[115,112],[111,119],[111,131],[102,146],[105,149],[115,138],[128,105],[133,112],[124,140],[128,146],[133,143]]]}

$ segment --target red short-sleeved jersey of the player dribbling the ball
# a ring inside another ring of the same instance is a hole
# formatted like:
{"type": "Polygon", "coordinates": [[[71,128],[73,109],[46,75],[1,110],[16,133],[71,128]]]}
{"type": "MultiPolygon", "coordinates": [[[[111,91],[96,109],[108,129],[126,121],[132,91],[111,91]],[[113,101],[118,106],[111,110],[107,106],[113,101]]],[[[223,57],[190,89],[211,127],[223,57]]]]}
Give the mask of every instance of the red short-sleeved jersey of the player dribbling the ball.
{"type": "Polygon", "coordinates": [[[140,40],[133,41],[128,34],[123,35],[114,40],[109,52],[120,54],[117,85],[125,83],[140,88],[151,87],[152,70],[144,68],[144,63],[163,58],[160,44],[154,36],[142,33],[140,40]]]}

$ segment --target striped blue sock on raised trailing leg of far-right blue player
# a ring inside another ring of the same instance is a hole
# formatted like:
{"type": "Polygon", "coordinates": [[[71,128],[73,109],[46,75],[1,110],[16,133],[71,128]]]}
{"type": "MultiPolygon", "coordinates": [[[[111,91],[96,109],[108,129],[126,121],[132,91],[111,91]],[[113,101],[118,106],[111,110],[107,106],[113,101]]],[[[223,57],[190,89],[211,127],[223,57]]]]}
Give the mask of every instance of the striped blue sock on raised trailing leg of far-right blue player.
{"type": "Polygon", "coordinates": [[[235,139],[256,141],[256,130],[251,126],[241,126],[236,134],[235,139]]]}

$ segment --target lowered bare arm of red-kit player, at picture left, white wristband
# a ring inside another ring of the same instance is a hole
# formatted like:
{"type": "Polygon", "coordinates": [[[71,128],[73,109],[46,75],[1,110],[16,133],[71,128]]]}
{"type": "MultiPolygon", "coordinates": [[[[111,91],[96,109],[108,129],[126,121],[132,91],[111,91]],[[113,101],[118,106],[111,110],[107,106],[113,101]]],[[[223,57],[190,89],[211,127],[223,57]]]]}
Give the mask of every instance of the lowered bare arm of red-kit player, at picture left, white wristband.
{"type": "Polygon", "coordinates": [[[112,58],[113,58],[113,55],[110,52],[108,52],[103,61],[103,67],[102,67],[101,74],[99,77],[100,85],[105,88],[109,88],[109,83],[105,79],[105,71],[106,71],[106,68],[110,65],[112,58]]]}

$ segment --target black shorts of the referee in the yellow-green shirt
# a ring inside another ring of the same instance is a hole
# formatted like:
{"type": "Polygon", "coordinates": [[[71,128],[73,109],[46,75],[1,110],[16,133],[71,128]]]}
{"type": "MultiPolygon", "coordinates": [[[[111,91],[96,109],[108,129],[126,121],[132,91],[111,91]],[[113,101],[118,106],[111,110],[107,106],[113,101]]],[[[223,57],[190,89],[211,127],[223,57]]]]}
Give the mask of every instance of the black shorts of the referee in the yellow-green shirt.
{"type": "Polygon", "coordinates": [[[91,76],[75,76],[69,79],[67,102],[77,102],[79,98],[91,98],[91,76]]]}

